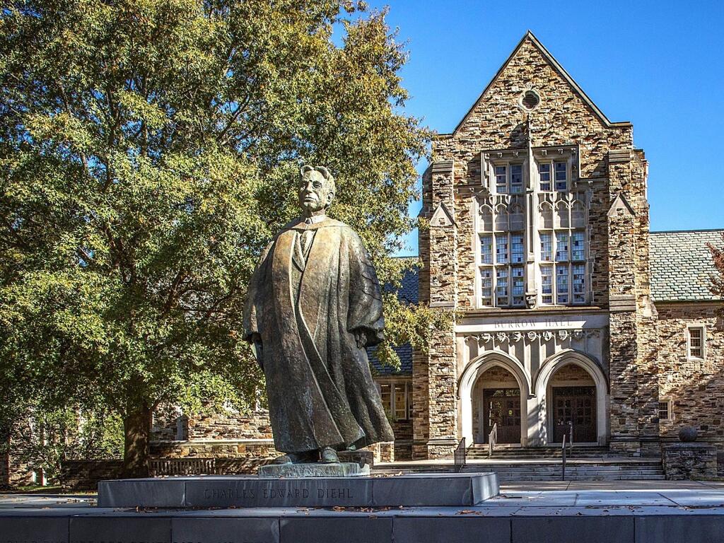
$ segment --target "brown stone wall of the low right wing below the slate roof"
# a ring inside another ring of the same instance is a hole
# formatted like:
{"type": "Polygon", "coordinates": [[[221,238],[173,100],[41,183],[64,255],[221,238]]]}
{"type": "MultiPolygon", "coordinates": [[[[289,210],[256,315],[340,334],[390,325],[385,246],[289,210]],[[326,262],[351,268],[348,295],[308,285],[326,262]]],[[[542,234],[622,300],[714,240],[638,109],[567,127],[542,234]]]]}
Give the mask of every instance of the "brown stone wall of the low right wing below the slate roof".
{"type": "Polygon", "coordinates": [[[662,439],[675,440],[681,426],[695,426],[699,442],[724,448],[724,304],[657,303],[659,328],[658,387],[671,400],[668,421],[659,421],[662,439]],[[687,356],[686,328],[704,326],[704,360],[687,356]]]}

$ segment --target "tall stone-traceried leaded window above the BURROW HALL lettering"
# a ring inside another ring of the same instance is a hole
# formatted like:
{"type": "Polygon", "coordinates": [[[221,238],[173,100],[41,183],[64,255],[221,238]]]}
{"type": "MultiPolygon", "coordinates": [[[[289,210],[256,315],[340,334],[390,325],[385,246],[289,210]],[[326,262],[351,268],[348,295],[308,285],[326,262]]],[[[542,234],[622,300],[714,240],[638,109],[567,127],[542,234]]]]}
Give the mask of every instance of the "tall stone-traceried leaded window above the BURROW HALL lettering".
{"type": "Polygon", "coordinates": [[[591,301],[589,188],[579,169],[571,145],[481,153],[487,191],[479,196],[476,233],[480,306],[526,307],[531,287],[544,306],[591,301]]]}

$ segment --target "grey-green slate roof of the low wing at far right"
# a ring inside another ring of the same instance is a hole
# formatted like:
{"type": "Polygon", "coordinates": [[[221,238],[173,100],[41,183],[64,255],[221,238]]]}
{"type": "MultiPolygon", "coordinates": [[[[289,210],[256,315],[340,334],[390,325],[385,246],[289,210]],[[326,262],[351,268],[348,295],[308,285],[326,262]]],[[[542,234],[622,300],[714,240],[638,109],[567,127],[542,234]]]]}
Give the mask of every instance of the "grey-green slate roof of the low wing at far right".
{"type": "Polygon", "coordinates": [[[651,295],[657,301],[717,300],[709,290],[715,273],[707,243],[724,245],[724,230],[651,232],[651,295]]]}

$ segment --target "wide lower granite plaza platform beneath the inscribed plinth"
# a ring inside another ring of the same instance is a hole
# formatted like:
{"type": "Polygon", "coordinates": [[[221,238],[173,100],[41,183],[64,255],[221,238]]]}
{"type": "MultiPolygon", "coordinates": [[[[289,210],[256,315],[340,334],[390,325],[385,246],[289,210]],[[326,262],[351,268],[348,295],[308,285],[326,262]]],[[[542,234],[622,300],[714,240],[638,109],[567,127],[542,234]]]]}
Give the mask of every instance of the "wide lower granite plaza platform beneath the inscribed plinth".
{"type": "Polygon", "coordinates": [[[4,508],[0,541],[707,543],[722,540],[722,504],[721,491],[593,491],[508,492],[446,508],[4,508]]]}

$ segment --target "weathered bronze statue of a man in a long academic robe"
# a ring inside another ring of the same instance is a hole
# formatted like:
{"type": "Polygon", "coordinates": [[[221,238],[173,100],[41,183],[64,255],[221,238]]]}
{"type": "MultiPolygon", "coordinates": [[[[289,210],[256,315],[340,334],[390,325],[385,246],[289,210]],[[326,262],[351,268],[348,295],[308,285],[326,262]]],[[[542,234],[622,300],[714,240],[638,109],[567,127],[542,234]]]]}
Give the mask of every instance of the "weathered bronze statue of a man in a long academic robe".
{"type": "Polygon", "coordinates": [[[394,439],[365,350],[382,341],[379,282],[359,236],[327,217],[334,190],[327,168],[301,169],[302,215],[249,285],[244,337],[264,369],[277,463],[334,463],[394,439]]]}

